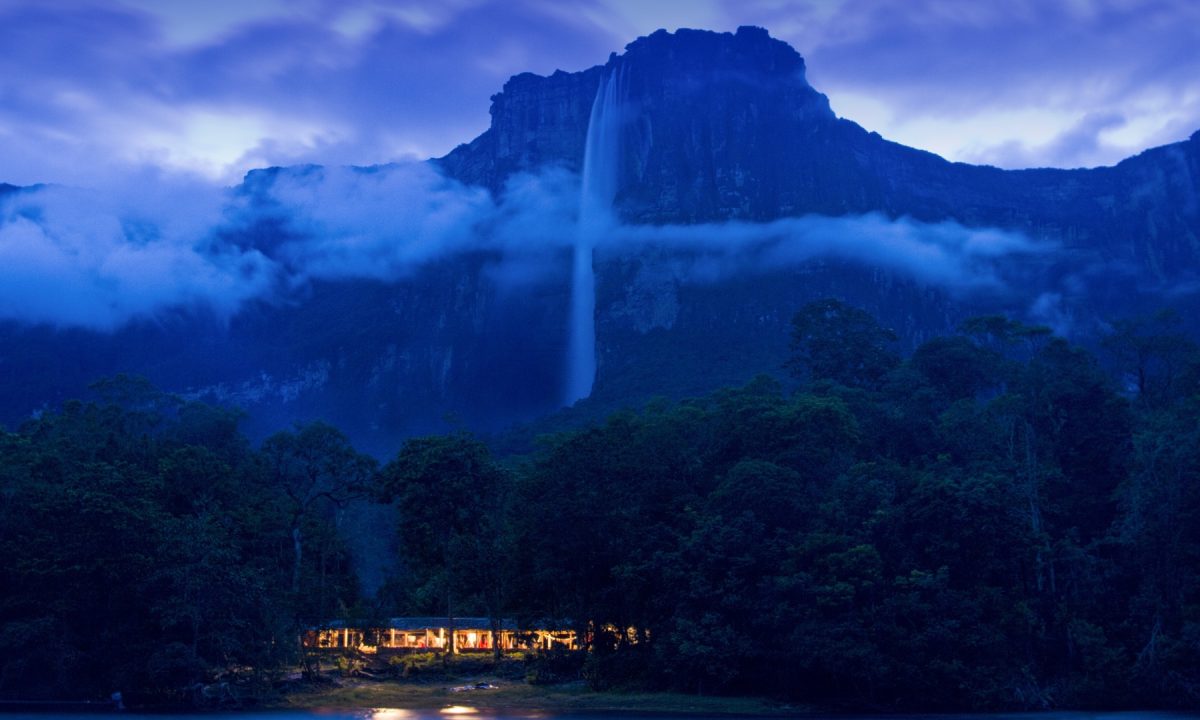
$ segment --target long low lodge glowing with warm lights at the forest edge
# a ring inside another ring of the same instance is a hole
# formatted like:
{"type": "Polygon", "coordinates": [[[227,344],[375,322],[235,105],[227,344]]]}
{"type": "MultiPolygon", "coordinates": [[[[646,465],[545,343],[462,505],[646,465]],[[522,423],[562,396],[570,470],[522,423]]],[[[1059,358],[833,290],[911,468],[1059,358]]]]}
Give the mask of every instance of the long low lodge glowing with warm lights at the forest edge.
{"type": "MultiPolygon", "coordinates": [[[[461,652],[578,649],[575,631],[566,628],[520,629],[516,620],[500,620],[492,632],[488,618],[455,618],[454,648],[461,652]]],[[[450,647],[449,618],[390,618],[377,623],[342,620],[308,628],[304,647],[308,649],[355,649],[364,653],[445,650],[450,647]]]]}

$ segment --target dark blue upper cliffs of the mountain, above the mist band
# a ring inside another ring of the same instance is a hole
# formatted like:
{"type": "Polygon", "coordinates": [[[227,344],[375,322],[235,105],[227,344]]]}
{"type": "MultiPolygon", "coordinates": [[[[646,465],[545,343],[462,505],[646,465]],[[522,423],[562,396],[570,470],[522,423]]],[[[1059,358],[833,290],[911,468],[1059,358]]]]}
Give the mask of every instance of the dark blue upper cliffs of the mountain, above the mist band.
{"type": "Polygon", "coordinates": [[[439,162],[498,191],[515,172],[578,170],[604,73],[628,107],[618,209],[637,223],[883,212],[1019,229],[1190,277],[1200,235],[1200,132],[1111,168],[1001,170],[952,163],[838,119],[804,60],[764,30],[680,30],[581,73],[517,76],[492,127],[439,162]]]}

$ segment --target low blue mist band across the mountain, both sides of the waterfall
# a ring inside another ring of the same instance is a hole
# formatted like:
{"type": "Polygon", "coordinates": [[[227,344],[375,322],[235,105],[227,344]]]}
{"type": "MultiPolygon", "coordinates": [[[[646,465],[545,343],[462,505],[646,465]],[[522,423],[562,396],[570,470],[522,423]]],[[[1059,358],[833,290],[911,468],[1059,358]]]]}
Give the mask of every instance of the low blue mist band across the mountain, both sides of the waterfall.
{"type": "MultiPolygon", "coordinates": [[[[468,252],[520,288],[570,272],[577,175],[514,176],[498,197],[433,163],[254,173],[239,188],[138,179],[106,191],[0,197],[0,319],[112,330],[179,310],[227,319],[317,281],[403,281],[468,252]]],[[[1008,258],[1050,245],[1019,234],[871,214],[770,223],[606,227],[598,252],[658,252],[680,282],[814,258],[907,274],[953,293],[1004,290],[1008,258]]]]}

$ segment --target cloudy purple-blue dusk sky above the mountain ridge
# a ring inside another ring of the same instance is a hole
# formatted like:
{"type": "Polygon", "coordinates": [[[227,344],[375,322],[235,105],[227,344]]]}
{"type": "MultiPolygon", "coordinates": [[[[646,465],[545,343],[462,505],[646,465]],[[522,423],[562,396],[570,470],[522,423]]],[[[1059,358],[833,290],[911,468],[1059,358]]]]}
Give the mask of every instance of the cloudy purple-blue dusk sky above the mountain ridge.
{"type": "Polygon", "coordinates": [[[437,156],[514,73],[744,24],[950,160],[1111,164],[1200,128],[1194,0],[0,0],[0,182],[437,156]]]}

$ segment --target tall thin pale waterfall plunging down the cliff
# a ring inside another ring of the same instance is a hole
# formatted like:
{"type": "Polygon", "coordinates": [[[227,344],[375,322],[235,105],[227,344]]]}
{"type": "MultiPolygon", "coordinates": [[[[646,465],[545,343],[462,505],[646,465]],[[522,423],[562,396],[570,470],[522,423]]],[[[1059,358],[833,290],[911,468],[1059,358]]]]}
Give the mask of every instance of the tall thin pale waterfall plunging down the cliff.
{"type": "Polygon", "coordinates": [[[596,241],[614,224],[612,202],[617,197],[620,156],[620,84],[618,70],[605,74],[588,120],[580,224],[575,236],[571,274],[571,335],[566,349],[565,404],[590,395],[592,383],[596,377],[596,280],[592,268],[592,251],[596,241]]]}

